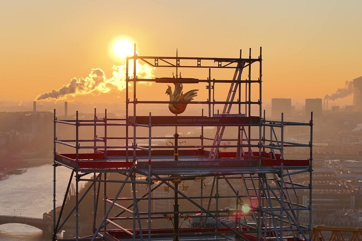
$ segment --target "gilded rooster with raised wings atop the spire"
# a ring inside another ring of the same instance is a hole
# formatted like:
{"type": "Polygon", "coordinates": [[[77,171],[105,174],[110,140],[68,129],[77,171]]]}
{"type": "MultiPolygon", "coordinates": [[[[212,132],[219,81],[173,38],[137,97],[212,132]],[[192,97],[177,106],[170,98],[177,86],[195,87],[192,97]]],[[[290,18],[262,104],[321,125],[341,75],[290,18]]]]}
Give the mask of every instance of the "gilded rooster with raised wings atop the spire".
{"type": "MultiPolygon", "coordinates": [[[[191,101],[193,100],[193,97],[197,96],[198,90],[190,90],[184,94],[182,92],[182,83],[174,83],[175,90],[172,93],[171,86],[168,85],[168,88],[166,90],[165,94],[168,94],[170,96],[170,101],[191,101]]],[[[187,106],[186,104],[168,104],[168,109],[174,113],[175,115],[181,114],[185,111],[187,106]]]]}

